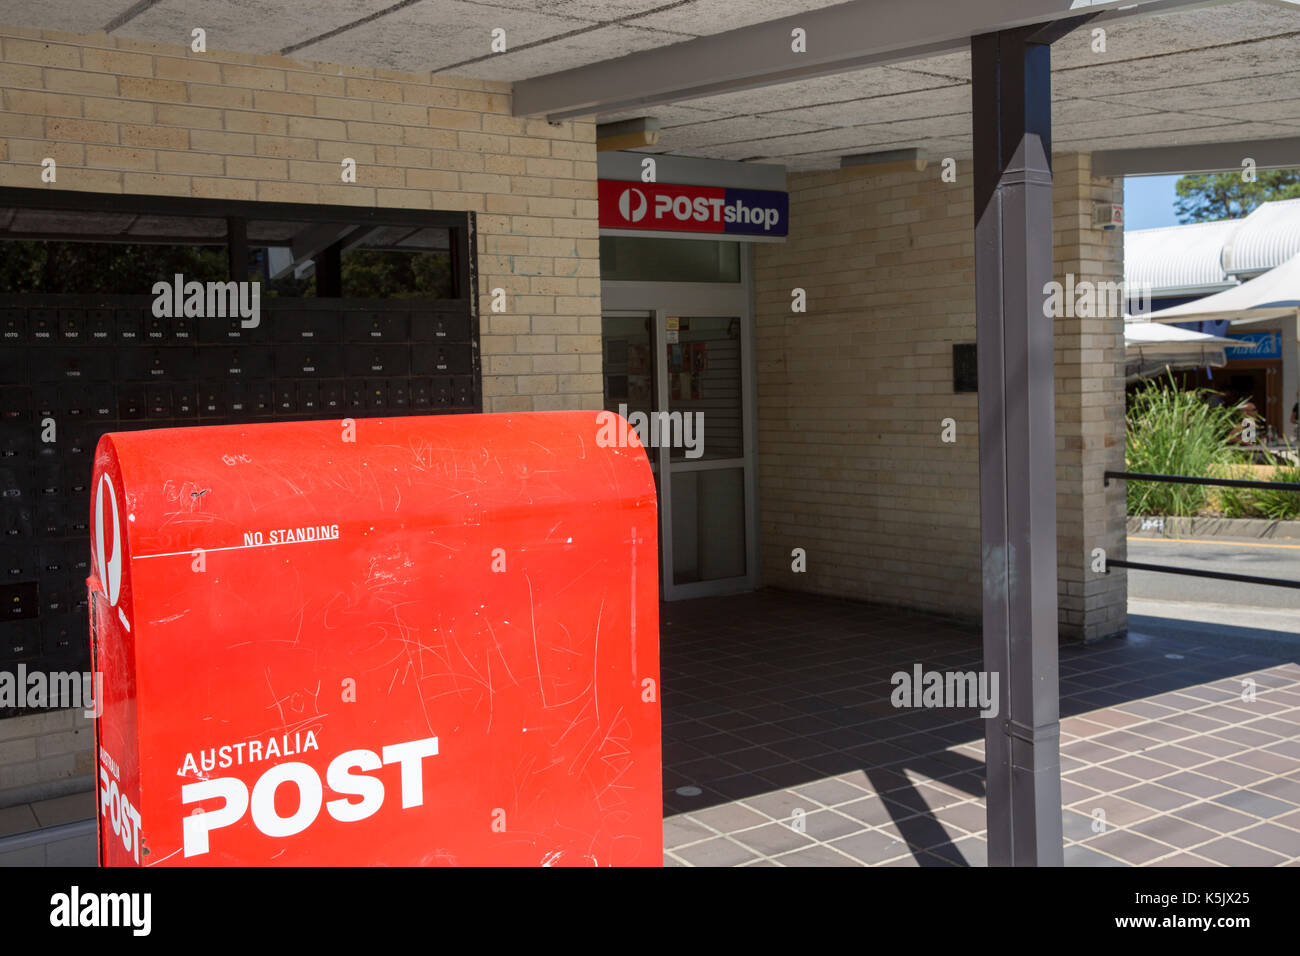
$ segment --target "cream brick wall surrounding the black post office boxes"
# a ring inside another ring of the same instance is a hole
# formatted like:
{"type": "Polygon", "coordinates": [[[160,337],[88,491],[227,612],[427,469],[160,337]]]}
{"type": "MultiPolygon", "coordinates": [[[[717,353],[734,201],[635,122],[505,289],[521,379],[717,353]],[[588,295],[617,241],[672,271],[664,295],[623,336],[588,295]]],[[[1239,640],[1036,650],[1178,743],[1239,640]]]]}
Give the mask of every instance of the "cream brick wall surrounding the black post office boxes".
{"type": "MultiPolygon", "coordinates": [[[[504,83],[4,26],[0,90],[3,186],[473,211],[484,408],[601,407],[594,122],[515,118],[504,83]]],[[[0,721],[0,806],[90,786],[90,748],[70,710],[0,721]]]]}

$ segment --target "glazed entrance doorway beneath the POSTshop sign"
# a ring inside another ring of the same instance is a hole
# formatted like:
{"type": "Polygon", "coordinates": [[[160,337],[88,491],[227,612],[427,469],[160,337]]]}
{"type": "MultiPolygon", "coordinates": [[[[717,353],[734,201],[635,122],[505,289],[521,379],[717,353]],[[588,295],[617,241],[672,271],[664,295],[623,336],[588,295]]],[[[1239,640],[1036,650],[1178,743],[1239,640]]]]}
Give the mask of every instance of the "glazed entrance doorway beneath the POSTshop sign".
{"type": "Polygon", "coordinates": [[[741,281],[601,284],[604,407],[646,423],[667,601],[758,585],[753,312],[740,258],[741,281]]]}

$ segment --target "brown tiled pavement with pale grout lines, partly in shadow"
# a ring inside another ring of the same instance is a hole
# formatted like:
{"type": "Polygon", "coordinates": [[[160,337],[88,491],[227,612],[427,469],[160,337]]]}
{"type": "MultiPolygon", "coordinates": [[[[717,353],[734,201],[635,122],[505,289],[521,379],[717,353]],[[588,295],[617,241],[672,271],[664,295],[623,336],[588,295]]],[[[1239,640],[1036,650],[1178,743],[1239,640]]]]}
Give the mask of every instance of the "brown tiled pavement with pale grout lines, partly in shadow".
{"type": "MultiPolygon", "coordinates": [[[[1061,648],[1066,865],[1300,864],[1300,637],[1244,646],[1061,648]]],[[[970,626],[874,605],[663,605],[664,862],[985,865],[983,722],[889,702],[894,671],[980,657],[970,626]]]]}

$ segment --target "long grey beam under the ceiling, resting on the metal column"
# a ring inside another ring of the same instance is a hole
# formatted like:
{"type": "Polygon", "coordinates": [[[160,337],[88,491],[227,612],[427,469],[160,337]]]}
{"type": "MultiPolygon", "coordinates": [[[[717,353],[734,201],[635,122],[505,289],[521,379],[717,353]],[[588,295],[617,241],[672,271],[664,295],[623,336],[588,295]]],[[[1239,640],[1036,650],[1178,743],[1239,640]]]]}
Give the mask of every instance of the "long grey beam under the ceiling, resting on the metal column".
{"type": "Polygon", "coordinates": [[[720,92],[966,49],[970,38],[1087,13],[1108,20],[1205,0],[854,0],[671,47],[524,79],[515,116],[550,120],[640,109],[720,92]],[[1119,9],[1123,8],[1123,9],[1119,9]],[[796,52],[802,30],[806,52],[796,52]]]}

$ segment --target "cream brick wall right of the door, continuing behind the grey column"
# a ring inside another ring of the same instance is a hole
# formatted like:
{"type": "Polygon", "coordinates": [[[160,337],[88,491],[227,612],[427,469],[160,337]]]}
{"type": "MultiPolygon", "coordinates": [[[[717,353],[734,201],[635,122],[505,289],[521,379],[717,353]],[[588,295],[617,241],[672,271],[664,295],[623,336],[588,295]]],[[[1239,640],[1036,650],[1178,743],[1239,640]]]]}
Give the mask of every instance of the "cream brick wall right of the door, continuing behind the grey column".
{"type": "MultiPolygon", "coordinates": [[[[1119,234],[1088,225],[1112,186],[1087,157],[1056,164],[1057,271],[1118,278],[1119,234]]],[[[952,390],[952,346],[975,341],[968,168],[801,173],[789,190],[789,241],[755,251],[763,580],[978,617],[978,397],[952,390]]],[[[1093,637],[1124,626],[1123,579],[1086,568],[1123,542],[1123,493],[1101,490],[1123,458],[1122,325],[1060,320],[1057,338],[1061,632],[1093,637]]]]}

